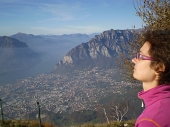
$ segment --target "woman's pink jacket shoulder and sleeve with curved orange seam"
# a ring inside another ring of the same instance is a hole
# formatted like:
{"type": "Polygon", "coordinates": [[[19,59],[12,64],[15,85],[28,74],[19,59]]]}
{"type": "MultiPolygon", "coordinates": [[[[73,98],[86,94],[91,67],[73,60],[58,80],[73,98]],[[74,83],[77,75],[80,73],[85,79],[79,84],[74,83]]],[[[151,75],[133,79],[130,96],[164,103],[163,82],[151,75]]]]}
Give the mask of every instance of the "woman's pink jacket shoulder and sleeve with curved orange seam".
{"type": "Polygon", "coordinates": [[[170,98],[160,99],[143,111],[140,117],[138,117],[135,127],[170,126],[169,107],[170,98]]]}

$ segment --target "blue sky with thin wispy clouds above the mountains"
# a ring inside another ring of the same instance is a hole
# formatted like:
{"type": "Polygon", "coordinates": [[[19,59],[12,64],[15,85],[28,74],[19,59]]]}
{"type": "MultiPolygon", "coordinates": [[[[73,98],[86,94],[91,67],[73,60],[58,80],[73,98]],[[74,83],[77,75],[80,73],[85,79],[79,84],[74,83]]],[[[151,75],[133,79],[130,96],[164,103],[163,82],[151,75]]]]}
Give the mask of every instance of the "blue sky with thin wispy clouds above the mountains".
{"type": "Polygon", "coordinates": [[[142,27],[132,0],[0,0],[0,36],[91,34],[142,27]]]}

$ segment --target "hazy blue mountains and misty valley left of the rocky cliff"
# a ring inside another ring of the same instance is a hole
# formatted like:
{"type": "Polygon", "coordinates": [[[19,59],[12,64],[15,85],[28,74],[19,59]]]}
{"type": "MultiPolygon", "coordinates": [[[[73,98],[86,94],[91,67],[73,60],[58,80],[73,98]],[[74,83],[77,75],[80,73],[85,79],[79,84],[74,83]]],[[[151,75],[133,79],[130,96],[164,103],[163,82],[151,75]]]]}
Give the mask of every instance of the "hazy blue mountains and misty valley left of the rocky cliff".
{"type": "Polygon", "coordinates": [[[82,42],[88,42],[94,35],[95,33],[90,35],[33,35],[19,32],[8,37],[1,36],[0,84],[13,83],[20,78],[53,70],[55,64],[69,50],[82,42]],[[27,49],[38,56],[29,55],[27,49]],[[25,57],[23,57],[24,54],[25,57]],[[32,58],[29,59],[30,57],[32,58]],[[36,60],[33,60],[34,58],[36,60]]]}

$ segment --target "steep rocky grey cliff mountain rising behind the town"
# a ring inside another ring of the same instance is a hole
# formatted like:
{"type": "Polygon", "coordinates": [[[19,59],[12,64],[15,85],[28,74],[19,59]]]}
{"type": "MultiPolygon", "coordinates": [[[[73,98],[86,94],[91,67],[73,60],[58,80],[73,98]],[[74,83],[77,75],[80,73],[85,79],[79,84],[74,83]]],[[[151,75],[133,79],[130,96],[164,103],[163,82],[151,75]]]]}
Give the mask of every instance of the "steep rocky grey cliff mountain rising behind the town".
{"type": "Polygon", "coordinates": [[[90,65],[94,61],[104,60],[102,64],[109,64],[105,63],[105,60],[110,59],[113,62],[120,52],[126,52],[124,45],[132,38],[133,32],[131,30],[111,29],[104,31],[89,42],[82,43],[70,50],[55,68],[65,65],[80,66],[82,61],[90,65]]]}

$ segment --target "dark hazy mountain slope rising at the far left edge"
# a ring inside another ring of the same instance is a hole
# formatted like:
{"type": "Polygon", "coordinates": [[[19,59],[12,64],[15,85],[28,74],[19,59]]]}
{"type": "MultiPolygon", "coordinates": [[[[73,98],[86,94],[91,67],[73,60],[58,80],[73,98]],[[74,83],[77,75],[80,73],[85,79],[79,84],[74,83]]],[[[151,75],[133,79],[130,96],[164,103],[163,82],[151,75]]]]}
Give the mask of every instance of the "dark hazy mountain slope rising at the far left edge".
{"type": "Polygon", "coordinates": [[[10,37],[0,37],[0,72],[24,69],[41,61],[28,45],[10,37]]]}

